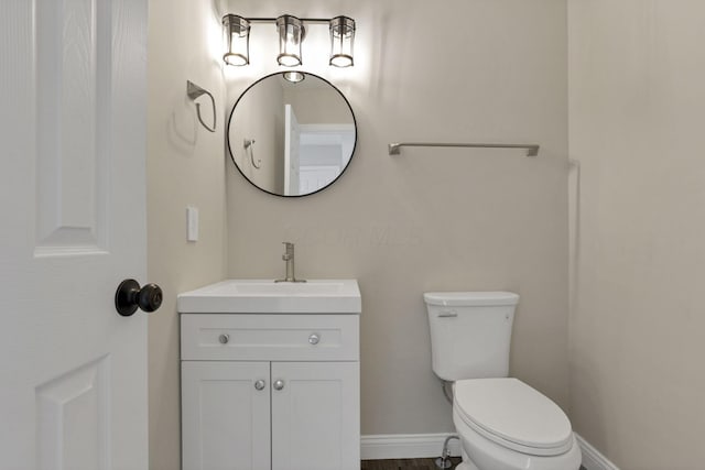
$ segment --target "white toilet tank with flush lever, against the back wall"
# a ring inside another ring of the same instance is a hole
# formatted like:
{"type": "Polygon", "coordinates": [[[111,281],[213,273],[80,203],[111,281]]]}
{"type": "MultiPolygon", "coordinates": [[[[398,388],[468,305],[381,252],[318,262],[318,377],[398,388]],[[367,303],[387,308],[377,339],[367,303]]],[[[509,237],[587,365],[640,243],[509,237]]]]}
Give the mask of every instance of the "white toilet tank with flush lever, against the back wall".
{"type": "Polygon", "coordinates": [[[433,372],[446,381],[503,378],[519,295],[511,292],[429,292],[433,372]]]}

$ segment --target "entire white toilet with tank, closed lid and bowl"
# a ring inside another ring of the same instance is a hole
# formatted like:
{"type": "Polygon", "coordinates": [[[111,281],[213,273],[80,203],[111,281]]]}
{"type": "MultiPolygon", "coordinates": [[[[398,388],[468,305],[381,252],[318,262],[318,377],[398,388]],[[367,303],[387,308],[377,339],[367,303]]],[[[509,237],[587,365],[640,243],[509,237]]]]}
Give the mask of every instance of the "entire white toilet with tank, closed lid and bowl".
{"type": "Polygon", "coordinates": [[[581,449],[563,411],[508,378],[511,326],[519,296],[510,292],[423,295],[432,367],[453,384],[457,470],[578,470],[581,449]]]}

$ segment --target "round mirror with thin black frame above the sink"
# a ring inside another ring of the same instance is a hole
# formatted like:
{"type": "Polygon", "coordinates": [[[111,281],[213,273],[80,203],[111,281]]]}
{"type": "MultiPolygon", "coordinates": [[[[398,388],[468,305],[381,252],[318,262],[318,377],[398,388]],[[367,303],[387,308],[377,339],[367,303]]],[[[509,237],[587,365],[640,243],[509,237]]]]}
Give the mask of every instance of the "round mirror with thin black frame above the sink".
{"type": "Polygon", "coordinates": [[[347,99],[327,80],[302,72],[252,84],[228,122],[235,165],[254,186],[278,196],[305,196],[333,184],[356,142],[347,99]]]}

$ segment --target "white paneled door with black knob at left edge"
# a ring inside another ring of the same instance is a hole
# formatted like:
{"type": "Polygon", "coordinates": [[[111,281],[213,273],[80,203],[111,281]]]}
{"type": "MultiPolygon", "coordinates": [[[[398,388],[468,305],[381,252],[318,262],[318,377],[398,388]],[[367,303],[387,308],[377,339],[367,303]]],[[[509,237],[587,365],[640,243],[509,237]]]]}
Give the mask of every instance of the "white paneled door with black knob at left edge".
{"type": "Polygon", "coordinates": [[[147,0],[2,0],[0,61],[0,468],[145,470],[147,0]]]}

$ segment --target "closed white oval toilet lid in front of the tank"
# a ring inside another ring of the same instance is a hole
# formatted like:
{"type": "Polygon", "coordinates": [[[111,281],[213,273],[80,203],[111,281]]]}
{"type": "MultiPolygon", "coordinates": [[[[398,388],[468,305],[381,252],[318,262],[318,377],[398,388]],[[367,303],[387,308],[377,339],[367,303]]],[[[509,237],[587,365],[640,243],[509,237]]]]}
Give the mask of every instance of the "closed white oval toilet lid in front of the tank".
{"type": "Polygon", "coordinates": [[[475,379],[455,383],[458,416],[488,439],[536,456],[567,452],[571,422],[550,398],[517,379],[475,379]]]}

